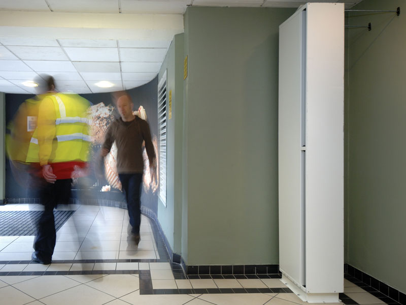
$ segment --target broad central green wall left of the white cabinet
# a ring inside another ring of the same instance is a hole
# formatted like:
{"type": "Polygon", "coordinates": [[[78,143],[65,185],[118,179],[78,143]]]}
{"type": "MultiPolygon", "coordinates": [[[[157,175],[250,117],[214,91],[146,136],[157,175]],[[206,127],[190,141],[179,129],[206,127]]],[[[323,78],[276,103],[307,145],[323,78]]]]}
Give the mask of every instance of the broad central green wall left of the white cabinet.
{"type": "Polygon", "coordinates": [[[293,12],[187,9],[188,265],[279,262],[278,39],[293,12]]]}

